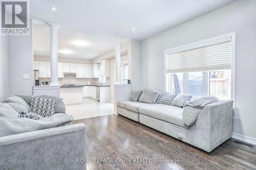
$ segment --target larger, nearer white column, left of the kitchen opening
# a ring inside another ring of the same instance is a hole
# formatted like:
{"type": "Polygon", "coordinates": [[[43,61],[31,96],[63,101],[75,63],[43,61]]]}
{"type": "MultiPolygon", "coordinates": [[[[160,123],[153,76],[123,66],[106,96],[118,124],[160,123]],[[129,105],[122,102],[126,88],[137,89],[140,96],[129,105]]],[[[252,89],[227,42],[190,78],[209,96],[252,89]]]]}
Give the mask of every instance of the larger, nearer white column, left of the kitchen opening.
{"type": "Polygon", "coordinates": [[[51,30],[51,86],[59,86],[58,83],[58,29],[59,25],[48,23],[51,30]]]}

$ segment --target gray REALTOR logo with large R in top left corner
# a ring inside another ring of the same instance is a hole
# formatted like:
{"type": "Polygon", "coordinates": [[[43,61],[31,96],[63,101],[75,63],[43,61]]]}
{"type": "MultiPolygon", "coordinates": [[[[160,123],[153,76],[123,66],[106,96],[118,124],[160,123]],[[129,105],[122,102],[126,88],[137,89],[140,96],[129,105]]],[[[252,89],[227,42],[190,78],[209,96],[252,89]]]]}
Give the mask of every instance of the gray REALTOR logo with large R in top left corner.
{"type": "Polygon", "coordinates": [[[1,35],[29,35],[28,1],[1,1],[1,35]]]}

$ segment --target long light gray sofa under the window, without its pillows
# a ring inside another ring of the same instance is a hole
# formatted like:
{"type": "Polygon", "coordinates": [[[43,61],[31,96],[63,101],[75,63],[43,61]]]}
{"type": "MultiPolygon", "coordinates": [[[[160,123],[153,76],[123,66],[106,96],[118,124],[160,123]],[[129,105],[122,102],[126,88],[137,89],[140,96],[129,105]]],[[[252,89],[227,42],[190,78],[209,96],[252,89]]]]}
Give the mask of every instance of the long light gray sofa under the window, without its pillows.
{"type": "Polygon", "coordinates": [[[118,101],[117,113],[206,152],[231,137],[233,101],[206,105],[196,122],[187,126],[183,121],[183,107],[159,104],[159,98],[161,94],[155,103],[118,101]]]}

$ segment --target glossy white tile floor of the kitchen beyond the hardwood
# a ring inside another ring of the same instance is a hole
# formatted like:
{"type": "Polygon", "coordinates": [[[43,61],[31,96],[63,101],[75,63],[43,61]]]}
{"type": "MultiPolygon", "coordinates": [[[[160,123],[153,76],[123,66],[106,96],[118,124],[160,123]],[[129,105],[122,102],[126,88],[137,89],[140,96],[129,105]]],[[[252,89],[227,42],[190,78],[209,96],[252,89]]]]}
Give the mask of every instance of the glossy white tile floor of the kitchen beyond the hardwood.
{"type": "Polygon", "coordinates": [[[82,104],[66,105],[66,113],[72,115],[74,120],[114,114],[114,104],[83,99],[82,104]]]}

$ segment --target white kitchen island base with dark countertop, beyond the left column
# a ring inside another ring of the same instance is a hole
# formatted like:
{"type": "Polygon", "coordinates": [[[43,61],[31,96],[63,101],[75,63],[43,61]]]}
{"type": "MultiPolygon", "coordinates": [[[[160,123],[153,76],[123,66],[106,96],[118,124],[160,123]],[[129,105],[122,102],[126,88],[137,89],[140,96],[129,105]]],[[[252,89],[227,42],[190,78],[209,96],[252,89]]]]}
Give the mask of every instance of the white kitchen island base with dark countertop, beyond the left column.
{"type": "Polygon", "coordinates": [[[82,103],[83,86],[60,86],[60,98],[65,105],[82,103]]]}

